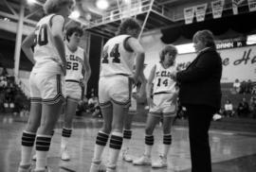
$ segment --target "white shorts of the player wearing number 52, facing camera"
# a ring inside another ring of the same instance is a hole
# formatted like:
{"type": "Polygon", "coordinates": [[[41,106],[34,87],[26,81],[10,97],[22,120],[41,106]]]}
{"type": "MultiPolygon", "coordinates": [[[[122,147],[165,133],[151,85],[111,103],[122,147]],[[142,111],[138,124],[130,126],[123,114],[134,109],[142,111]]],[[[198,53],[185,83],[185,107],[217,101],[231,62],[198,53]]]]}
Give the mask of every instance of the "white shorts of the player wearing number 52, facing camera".
{"type": "Polygon", "coordinates": [[[65,80],[65,95],[70,100],[79,101],[82,96],[82,88],[79,81],[65,80]]]}

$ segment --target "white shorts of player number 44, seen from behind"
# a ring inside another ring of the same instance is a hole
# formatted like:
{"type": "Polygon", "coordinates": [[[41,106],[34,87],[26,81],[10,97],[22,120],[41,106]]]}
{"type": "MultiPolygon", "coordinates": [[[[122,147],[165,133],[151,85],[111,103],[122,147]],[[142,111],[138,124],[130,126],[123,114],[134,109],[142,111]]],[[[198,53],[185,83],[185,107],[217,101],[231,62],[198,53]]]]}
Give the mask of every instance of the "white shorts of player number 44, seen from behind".
{"type": "Polygon", "coordinates": [[[100,77],[99,80],[99,101],[101,107],[111,102],[130,106],[131,87],[130,79],[125,76],[100,77]]]}

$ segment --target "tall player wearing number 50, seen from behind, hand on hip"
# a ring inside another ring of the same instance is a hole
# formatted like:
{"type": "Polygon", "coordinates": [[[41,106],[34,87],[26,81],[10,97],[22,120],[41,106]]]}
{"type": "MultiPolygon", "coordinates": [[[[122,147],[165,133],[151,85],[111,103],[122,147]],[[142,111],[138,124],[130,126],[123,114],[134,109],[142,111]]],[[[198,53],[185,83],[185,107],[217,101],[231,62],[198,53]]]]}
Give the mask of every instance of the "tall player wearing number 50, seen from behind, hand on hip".
{"type": "Polygon", "coordinates": [[[64,22],[75,5],[73,0],[47,0],[42,18],[27,36],[22,48],[35,61],[29,77],[30,114],[22,134],[21,162],[18,172],[30,170],[31,151],[36,144],[35,172],[48,171],[46,156],[51,132],[58,121],[64,103],[64,22]],[[32,46],[34,45],[34,52],[32,46]],[[39,128],[39,129],[38,129],[39,128]]]}

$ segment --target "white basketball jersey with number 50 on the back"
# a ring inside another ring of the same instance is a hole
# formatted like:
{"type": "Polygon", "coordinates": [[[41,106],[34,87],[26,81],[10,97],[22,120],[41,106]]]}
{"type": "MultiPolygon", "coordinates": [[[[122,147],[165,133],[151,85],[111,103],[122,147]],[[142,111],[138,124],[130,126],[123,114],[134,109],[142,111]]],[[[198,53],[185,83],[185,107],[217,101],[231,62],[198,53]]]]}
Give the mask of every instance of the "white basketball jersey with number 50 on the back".
{"type": "Polygon", "coordinates": [[[51,21],[55,14],[42,18],[35,28],[34,60],[36,61],[33,72],[61,73],[62,60],[53,43],[51,21]]]}

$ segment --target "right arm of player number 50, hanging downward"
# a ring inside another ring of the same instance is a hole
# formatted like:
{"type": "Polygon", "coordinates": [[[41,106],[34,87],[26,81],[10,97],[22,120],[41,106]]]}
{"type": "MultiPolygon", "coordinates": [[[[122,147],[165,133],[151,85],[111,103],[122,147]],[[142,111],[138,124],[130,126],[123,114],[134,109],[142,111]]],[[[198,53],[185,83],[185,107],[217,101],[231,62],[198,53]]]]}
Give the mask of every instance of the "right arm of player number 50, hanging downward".
{"type": "Polygon", "coordinates": [[[64,41],[63,41],[63,27],[64,27],[64,17],[61,15],[55,15],[52,18],[51,31],[53,36],[53,43],[57,48],[57,51],[60,55],[61,60],[63,61],[64,75],[65,75],[66,60],[65,60],[64,41]]]}

